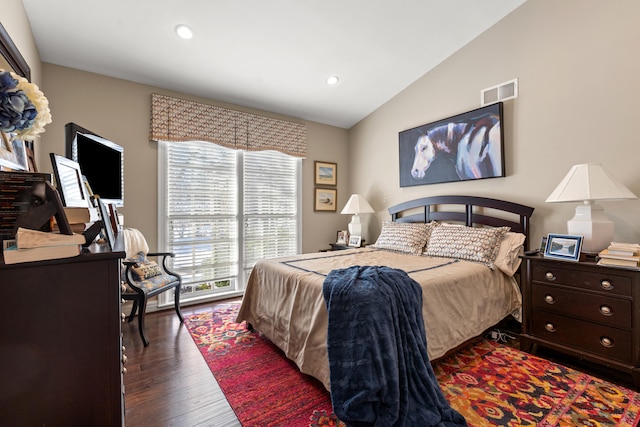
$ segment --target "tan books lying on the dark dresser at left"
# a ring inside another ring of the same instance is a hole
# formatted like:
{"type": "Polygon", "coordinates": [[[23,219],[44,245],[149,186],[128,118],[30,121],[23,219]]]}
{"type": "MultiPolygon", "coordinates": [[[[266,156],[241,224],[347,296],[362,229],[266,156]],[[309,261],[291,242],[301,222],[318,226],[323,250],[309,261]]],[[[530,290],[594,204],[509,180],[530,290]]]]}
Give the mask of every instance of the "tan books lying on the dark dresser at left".
{"type": "Polygon", "coordinates": [[[3,241],[5,264],[69,258],[80,255],[85,238],[82,234],[60,234],[18,228],[15,240],[3,241]]]}

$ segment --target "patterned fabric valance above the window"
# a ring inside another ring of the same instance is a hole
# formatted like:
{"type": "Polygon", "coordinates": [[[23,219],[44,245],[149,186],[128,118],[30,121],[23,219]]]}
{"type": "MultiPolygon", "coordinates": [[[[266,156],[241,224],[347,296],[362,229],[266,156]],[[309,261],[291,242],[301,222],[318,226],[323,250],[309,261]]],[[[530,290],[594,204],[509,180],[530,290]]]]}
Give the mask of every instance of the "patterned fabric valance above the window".
{"type": "Polygon", "coordinates": [[[210,104],[151,94],[151,140],[208,141],[238,150],[307,155],[307,127],[210,104]]]}

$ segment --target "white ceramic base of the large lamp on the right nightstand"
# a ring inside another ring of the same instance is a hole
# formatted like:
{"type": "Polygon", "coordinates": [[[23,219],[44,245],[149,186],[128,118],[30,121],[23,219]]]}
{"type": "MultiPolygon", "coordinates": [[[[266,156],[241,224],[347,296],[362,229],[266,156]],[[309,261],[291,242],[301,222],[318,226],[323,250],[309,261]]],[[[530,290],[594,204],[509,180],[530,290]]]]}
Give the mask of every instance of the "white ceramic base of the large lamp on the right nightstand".
{"type": "Polygon", "coordinates": [[[613,240],[613,222],[604,214],[604,208],[595,203],[576,206],[576,214],[567,221],[568,234],[583,236],[582,252],[597,254],[609,247],[613,240]]]}

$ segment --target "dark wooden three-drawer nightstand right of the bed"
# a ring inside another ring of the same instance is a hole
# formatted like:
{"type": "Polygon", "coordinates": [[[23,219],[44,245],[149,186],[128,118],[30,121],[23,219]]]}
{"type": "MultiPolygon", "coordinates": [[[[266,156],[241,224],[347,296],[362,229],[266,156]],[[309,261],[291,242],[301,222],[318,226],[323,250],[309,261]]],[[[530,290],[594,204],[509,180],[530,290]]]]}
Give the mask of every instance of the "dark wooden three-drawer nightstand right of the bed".
{"type": "Polygon", "coordinates": [[[640,387],[640,271],[523,256],[521,348],[628,373],[640,387]]]}

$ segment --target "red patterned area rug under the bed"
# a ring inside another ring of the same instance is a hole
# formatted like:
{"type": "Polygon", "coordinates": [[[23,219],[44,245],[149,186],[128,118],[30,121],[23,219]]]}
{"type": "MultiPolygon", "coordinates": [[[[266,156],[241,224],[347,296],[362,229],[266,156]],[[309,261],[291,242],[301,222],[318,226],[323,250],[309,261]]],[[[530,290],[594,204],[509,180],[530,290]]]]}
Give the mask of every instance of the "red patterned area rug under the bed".
{"type": "MultiPolygon", "coordinates": [[[[322,384],[234,320],[239,303],[185,323],[243,426],[343,426],[322,384]]],[[[481,341],[434,366],[469,426],[636,426],[640,394],[519,350],[481,341]]]]}

